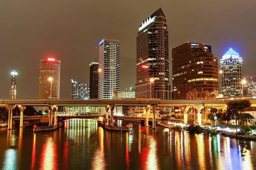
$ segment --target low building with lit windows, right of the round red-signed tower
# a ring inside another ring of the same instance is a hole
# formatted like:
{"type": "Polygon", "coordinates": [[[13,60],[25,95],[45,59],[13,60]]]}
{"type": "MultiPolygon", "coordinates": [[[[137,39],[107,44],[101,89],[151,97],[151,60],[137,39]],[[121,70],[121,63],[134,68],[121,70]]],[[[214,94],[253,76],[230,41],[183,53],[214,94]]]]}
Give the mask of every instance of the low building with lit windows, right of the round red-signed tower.
{"type": "Polygon", "coordinates": [[[88,100],[90,98],[90,84],[72,82],[72,99],[88,100]]]}

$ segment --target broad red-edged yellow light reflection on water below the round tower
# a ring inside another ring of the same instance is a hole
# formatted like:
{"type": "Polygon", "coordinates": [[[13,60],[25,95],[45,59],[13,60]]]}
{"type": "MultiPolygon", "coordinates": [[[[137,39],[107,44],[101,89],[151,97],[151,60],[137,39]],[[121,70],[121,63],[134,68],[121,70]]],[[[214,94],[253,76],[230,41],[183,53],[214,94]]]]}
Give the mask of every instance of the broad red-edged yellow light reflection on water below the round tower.
{"type": "Polygon", "coordinates": [[[43,145],[41,157],[41,170],[56,170],[58,156],[56,154],[56,144],[52,137],[47,137],[46,143],[43,145]]]}

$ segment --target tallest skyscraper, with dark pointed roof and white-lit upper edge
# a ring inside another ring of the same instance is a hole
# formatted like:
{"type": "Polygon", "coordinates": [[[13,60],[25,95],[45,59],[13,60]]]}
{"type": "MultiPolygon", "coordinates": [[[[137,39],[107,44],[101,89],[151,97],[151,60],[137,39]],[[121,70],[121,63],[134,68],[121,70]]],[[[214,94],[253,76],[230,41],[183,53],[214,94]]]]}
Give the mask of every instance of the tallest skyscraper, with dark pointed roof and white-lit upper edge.
{"type": "Polygon", "coordinates": [[[171,99],[168,47],[166,17],[159,8],[138,28],[136,98],[171,99]]]}

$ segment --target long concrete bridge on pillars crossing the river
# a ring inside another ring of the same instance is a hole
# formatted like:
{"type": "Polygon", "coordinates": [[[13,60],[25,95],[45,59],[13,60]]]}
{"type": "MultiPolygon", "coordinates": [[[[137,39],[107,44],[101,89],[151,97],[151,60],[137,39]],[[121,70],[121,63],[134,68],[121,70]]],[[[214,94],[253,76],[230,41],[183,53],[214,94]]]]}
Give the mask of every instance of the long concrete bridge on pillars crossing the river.
{"type": "MultiPolygon", "coordinates": [[[[256,106],[256,99],[250,99],[252,106],[256,106]]],[[[153,111],[153,128],[156,127],[156,107],[172,106],[183,107],[184,122],[187,120],[186,111],[194,106],[197,110],[203,107],[221,107],[226,106],[222,100],[156,100],[156,99],[125,99],[125,100],[73,100],[73,99],[0,99],[0,106],[9,109],[8,129],[12,129],[12,110],[17,106],[21,110],[21,123],[23,126],[23,111],[26,106],[47,106],[49,108],[49,125],[52,124],[52,114],[54,114],[54,124],[57,123],[56,110],[59,106],[104,106],[106,108],[106,119],[109,124],[109,109],[111,112],[111,121],[113,123],[113,111],[115,106],[143,106],[146,115],[146,126],[148,126],[148,115],[150,109],[153,111]]],[[[198,116],[200,118],[200,116],[198,116]]]]}

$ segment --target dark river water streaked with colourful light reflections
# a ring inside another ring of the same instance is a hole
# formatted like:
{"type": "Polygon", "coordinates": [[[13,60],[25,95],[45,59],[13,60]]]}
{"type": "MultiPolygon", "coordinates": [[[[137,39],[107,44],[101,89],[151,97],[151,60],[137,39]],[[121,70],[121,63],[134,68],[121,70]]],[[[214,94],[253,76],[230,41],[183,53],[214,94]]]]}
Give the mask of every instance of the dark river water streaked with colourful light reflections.
{"type": "MultiPolygon", "coordinates": [[[[127,124],[128,122],[121,122],[127,124]]],[[[256,142],[134,124],[133,134],[71,119],[51,132],[0,129],[3,170],[251,170],[256,142]]]]}

